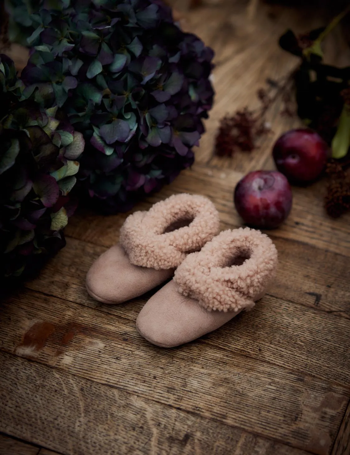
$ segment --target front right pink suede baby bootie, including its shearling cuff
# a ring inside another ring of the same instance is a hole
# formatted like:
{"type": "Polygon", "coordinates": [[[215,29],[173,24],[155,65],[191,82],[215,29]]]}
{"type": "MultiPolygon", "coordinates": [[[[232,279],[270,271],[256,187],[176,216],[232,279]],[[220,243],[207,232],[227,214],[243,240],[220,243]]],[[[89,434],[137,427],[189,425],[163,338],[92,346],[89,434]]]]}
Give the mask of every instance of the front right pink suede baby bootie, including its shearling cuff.
{"type": "Polygon", "coordinates": [[[150,343],[174,347],[228,322],[266,292],[274,279],[277,250],[249,227],[223,231],[184,259],[142,308],[139,333],[150,343]]]}

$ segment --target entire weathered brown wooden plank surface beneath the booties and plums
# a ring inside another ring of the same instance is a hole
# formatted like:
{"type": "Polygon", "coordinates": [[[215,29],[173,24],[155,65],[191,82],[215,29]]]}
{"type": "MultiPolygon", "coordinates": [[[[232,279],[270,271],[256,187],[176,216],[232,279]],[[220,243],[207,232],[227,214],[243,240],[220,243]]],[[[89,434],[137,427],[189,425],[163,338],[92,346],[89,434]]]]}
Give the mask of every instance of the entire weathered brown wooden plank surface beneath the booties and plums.
{"type": "MultiPolygon", "coordinates": [[[[279,34],[320,25],[320,14],[266,5],[249,13],[234,0],[184,14],[183,27],[217,53],[215,105],[193,168],[135,209],[195,192],[213,200],[223,229],[241,225],[236,182],[271,169],[271,144],[299,121],[277,102],[258,150],[219,159],[218,120],[254,107],[265,79],[297,64],[278,49],[279,34]]],[[[349,455],[350,216],[325,215],[324,188],[293,188],[287,222],[270,232],[280,266],[269,294],[176,349],[137,333],[151,294],[118,306],[88,297],[86,272],[126,215],[78,212],[66,248],[1,305],[0,454],[349,455]]]]}

